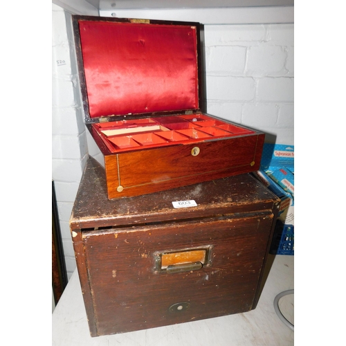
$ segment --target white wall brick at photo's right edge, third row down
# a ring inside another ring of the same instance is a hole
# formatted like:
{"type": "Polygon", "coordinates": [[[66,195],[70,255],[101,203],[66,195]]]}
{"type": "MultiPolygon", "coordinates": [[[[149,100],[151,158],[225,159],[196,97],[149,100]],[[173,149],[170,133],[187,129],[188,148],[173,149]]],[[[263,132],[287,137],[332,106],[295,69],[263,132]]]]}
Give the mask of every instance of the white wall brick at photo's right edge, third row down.
{"type": "Polygon", "coordinates": [[[257,100],[293,102],[293,78],[260,78],[257,85],[257,100]]]}

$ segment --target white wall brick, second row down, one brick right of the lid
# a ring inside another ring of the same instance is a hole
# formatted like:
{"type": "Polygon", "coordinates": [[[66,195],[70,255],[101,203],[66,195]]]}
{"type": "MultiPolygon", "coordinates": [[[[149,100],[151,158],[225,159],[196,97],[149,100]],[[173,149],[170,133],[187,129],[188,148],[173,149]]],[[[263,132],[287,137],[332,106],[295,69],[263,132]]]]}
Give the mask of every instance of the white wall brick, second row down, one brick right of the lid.
{"type": "Polygon", "coordinates": [[[285,62],[286,52],[280,46],[260,44],[260,46],[249,47],[246,74],[265,76],[281,73],[283,75],[286,73],[285,62]]]}

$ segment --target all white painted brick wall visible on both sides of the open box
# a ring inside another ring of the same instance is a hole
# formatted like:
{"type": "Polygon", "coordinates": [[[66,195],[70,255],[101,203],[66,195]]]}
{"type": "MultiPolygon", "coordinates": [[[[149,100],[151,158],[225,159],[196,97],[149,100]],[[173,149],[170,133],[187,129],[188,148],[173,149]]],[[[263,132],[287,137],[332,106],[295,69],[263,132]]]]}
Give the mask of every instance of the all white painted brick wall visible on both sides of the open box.
{"type": "MultiPolygon", "coordinates": [[[[88,152],[102,163],[85,131],[71,44],[69,14],[53,5],[53,179],[69,277],[69,218],[88,152]]],[[[262,130],[267,142],[293,145],[293,24],[206,25],[204,51],[208,113],[262,130]]]]}

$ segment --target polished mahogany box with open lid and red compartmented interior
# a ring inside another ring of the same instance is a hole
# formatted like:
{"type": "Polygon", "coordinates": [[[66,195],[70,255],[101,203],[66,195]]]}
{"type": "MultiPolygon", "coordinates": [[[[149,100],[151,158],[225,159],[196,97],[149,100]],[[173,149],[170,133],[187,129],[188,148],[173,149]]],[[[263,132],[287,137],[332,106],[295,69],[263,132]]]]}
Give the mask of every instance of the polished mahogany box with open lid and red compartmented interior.
{"type": "Polygon", "coordinates": [[[109,199],[258,170],[264,134],[201,111],[198,23],[73,16],[109,199]]]}

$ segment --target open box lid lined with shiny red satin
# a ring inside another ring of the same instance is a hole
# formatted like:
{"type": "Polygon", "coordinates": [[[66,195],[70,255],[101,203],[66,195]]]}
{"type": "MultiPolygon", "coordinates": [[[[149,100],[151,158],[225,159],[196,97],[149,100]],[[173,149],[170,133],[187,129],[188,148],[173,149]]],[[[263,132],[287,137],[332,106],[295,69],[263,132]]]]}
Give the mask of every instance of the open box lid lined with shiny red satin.
{"type": "Polygon", "coordinates": [[[198,23],[72,17],[86,122],[199,109],[198,23]]]}

